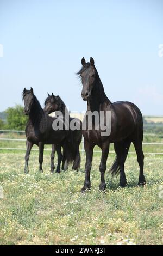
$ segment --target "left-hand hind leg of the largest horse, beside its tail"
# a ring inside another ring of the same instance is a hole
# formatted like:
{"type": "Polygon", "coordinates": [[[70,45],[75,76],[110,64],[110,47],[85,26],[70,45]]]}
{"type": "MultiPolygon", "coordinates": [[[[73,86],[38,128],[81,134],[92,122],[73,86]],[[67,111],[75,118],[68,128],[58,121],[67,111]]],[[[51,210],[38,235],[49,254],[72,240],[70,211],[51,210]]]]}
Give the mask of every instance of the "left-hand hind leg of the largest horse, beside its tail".
{"type": "Polygon", "coordinates": [[[131,141],[128,138],[122,142],[117,142],[114,144],[115,152],[117,154],[117,161],[120,168],[120,187],[127,186],[126,175],[124,172],[124,163],[127,159],[130,144],[131,141]]]}

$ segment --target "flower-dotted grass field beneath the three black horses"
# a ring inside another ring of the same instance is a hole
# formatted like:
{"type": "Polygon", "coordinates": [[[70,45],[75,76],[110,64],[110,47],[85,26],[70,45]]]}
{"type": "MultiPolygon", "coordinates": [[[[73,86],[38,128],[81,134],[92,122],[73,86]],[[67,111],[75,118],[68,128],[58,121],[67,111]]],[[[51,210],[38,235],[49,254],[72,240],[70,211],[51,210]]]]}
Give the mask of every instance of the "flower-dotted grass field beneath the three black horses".
{"type": "MultiPolygon", "coordinates": [[[[44,172],[38,172],[38,153],[32,152],[30,174],[24,175],[24,153],[0,153],[0,243],[5,245],[160,245],[163,243],[163,158],[147,156],[147,185],[137,187],[139,168],[135,156],[126,162],[128,187],[118,188],[118,178],[106,172],[107,189],[98,191],[100,160],[93,159],[92,189],[80,193],[85,157],[80,172],[70,168],[49,173],[49,153],[44,172]],[[161,187],[162,186],[162,187],[161,187]]],[[[114,155],[108,159],[108,167],[114,155]]]]}

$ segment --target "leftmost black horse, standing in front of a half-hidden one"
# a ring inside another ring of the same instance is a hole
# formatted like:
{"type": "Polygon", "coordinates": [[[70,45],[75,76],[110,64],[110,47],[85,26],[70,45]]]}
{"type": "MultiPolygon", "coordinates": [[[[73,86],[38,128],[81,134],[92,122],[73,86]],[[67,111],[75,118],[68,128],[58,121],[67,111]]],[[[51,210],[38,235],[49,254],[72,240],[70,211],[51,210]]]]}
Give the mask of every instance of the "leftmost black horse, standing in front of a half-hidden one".
{"type": "Polygon", "coordinates": [[[29,115],[29,120],[26,126],[26,145],[27,151],[25,156],[24,172],[28,173],[28,161],[30,151],[34,144],[39,146],[39,163],[40,171],[42,172],[43,149],[44,144],[53,144],[51,154],[51,171],[54,171],[54,151],[58,153],[58,166],[56,172],[60,172],[60,163],[62,160],[61,145],[65,147],[65,159],[67,162],[72,161],[72,150],[74,145],[69,138],[69,134],[65,130],[54,131],[52,128],[53,121],[56,118],[49,117],[41,108],[39,101],[33,93],[33,88],[26,90],[24,88],[22,97],[24,100],[24,113],[29,115]]]}

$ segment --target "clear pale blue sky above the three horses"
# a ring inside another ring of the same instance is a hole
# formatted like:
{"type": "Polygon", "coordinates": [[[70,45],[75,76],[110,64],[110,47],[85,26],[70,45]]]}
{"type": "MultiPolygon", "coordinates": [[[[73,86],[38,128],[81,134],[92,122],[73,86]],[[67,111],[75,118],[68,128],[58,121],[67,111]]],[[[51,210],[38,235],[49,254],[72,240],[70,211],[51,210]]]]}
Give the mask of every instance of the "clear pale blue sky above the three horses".
{"type": "Polygon", "coordinates": [[[33,87],[85,111],[76,72],[92,56],[105,93],[163,115],[163,1],[0,0],[0,111],[33,87]]]}

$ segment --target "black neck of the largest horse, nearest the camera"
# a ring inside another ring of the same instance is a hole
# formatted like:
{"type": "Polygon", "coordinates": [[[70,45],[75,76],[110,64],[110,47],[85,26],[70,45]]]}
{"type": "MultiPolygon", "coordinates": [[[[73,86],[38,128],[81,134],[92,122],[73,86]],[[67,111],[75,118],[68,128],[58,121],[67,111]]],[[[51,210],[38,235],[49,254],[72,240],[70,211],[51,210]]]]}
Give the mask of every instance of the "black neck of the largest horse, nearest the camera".
{"type": "Polygon", "coordinates": [[[103,84],[100,78],[95,81],[94,88],[92,89],[91,97],[87,101],[87,111],[100,111],[102,105],[112,105],[111,101],[105,94],[103,84]]]}

